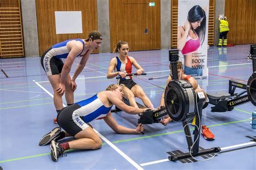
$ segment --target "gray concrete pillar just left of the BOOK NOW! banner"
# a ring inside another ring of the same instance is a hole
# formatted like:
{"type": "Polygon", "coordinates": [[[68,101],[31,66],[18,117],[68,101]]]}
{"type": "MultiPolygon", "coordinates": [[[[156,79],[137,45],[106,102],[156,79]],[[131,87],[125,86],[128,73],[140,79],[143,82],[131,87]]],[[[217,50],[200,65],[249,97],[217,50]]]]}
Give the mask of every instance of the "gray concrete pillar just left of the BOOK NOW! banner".
{"type": "Polygon", "coordinates": [[[171,1],[161,0],[161,49],[171,48],[171,1]]]}

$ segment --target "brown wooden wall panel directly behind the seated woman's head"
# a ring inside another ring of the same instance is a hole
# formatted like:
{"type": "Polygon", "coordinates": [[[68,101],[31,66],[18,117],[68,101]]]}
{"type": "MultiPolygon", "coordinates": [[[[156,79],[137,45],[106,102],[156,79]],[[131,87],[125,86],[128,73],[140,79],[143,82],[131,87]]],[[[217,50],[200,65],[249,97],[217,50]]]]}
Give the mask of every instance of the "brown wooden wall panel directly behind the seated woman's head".
{"type": "Polygon", "coordinates": [[[119,40],[132,51],[160,49],[160,0],[109,0],[109,10],[111,51],[119,40]]]}

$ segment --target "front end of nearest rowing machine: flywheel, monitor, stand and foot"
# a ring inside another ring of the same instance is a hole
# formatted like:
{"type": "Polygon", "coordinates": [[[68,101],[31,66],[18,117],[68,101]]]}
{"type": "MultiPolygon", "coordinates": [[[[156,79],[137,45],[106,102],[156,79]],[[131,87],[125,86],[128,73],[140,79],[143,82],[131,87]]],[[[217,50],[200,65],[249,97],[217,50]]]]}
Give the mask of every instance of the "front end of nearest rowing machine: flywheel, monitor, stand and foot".
{"type": "Polygon", "coordinates": [[[205,96],[203,92],[196,92],[193,86],[185,80],[178,80],[177,60],[178,50],[169,51],[169,60],[172,64],[173,79],[165,88],[164,99],[166,111],[173,121],[181,121],[187,140],[188,153],[171,151],[168,157],[170,161],[183,160],[191,157],[213,154],[220,152],[219,147],[204,149],[199,147],[200,120],[203,110],[205,96]],[[196,127],[194,129],[194,140],[191,137],[187,121],[196,115],[196,127]],[[200,148],[200,151],[199,151],[200,148]]]}

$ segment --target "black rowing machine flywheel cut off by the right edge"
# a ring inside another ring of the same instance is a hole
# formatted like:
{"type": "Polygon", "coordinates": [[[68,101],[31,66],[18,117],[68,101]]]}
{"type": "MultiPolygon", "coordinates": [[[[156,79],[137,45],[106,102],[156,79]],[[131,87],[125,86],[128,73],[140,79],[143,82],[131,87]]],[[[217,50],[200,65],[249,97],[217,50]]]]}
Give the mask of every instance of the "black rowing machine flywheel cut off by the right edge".
{"type": "Polygon", "coordinates": [[[253,73],[248,79],[246,90],[248,99],[250,99],[251,103],[256,106],[256,73],[253,73]]]}

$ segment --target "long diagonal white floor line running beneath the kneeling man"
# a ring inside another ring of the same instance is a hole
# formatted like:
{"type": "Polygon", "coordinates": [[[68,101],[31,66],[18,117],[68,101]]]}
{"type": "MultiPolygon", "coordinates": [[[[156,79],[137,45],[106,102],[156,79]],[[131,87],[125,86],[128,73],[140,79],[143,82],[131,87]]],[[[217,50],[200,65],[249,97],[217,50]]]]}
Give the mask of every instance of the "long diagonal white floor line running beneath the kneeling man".
{"type": "MultiPolygon", "coordinates": [[[[105,77],[105,76],[104,76],[105,77]]],[[[38,82],[35,82],[39,87],[41,87],[41,89],[43,89],[46,93],[48,93],[52,98],[53,95],[52,93],[50,93],[48,90],[46,90],[41,84],[39,84],[38,82]]],[[[66,107],[66,105],[63,104],[64,107],[66,107]]],[[[114,144],[112,144],[111,141],[109,141],[108,139],[106,139],[102,134],[100,134],[98,131],[95,130],[95,128],[93,128],[93,130],[99,135],[100,138],[102,138],[102,140],[104,140],[106,142],[106,144],[108,144],[109,146],[111,146],[117,153],[119,153],[120,155],[122,155],[122,157],[124,157],[124,159],[126,159],[128,162],[130,162],[130,164],[132,164],[134,167],[136,167],[139,170],[143,170],[142,167],[140,167],[135,161],[133,161],[130,157],[128,157],[123,151],[121,151],[118,147],[116,147],[114,144]]]]}

